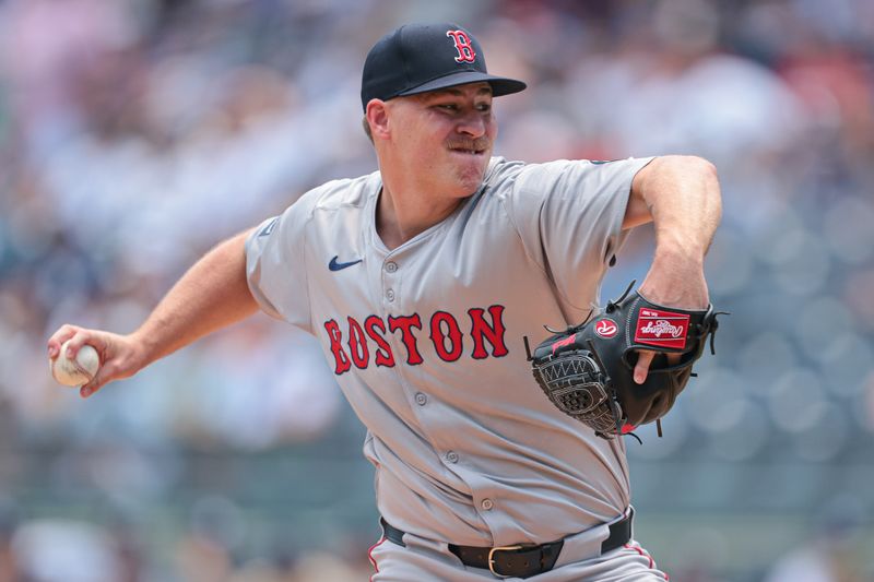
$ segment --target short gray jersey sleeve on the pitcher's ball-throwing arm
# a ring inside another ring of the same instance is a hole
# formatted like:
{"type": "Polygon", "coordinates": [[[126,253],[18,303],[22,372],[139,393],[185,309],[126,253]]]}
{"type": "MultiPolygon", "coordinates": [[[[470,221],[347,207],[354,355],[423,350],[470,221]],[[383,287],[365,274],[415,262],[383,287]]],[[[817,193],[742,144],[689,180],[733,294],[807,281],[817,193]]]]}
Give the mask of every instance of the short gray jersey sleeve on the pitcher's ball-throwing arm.
{"type": "Polygon", "coordinates": [[[246,240],[249,290],[268,314],[311,332],[305,201],[269,218],[246,240]]]}

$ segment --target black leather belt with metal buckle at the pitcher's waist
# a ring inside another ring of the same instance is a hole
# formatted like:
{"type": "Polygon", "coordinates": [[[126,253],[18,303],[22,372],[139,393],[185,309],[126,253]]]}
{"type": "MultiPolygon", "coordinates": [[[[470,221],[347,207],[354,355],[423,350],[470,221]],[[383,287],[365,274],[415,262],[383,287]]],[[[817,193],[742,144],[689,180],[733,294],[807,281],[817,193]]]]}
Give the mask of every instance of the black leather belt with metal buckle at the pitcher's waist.
{"type": "MultiPolygon", "coordinates": [[[[626,518],[610,525],[610,536],[601,543],[601,555],[617,549],[631,539],[634,514],[634,509],[629,508],[626,518]]],[[[379,519],[379,522],[382,524],[382,532],[389,542],[406,546],[403,543],[404,532],[390,525],[382,518],[379,519]]],[[[494,548],[449,544],[449,551],[458,556],[463,565],[489,570],[498,578],[530,578],[552,570],[564,544],[564,539],[539,546],[518,544],[494,548]]]]}

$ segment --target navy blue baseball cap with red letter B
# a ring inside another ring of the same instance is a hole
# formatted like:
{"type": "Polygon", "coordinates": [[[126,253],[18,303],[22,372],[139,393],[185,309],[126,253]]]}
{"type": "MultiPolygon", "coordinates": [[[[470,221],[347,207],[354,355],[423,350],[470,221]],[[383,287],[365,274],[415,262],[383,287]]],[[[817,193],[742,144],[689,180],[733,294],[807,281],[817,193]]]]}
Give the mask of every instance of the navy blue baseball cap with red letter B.
{"type": "Polygon", "coordinates": [[[438,88],[485,81],[494,96],[525,88],[515,79],[488,74],[485,55],[458,24],[405,24],[374,45],[364,61],[362,107],[438,88]]]}

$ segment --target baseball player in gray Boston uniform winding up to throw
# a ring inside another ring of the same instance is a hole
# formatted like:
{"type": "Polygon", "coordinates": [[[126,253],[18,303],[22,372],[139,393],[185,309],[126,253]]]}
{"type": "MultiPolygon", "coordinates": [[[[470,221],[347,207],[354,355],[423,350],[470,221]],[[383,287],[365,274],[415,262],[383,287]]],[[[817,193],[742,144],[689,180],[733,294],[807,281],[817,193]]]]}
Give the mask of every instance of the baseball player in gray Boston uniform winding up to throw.
{"type": "Polygon", "coordinates": [[[524,88],[489,74],[457,24],[391,32],[362,79],[376,171],[217,246],[135,332],[63,325],[49,356],[93,345],[90,396],[260,308],[321,342],[368,429],[371,580],[666,580],[633,536],[625,435],[670,409],[716,328],[716,171],[493,156],[493,99],[524,88]],[[648,222],[646,278],[593,310],[648,222]],[[543,324],[560,328],[544,338],[543,324]]]}

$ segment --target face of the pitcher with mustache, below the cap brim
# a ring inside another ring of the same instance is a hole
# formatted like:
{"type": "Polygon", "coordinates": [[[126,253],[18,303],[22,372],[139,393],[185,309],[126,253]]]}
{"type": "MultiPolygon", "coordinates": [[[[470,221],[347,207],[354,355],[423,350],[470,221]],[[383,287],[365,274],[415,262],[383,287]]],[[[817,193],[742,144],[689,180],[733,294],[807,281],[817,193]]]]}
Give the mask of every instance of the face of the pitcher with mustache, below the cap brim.
{"type": "Polygon", "coordinates": [[[483,181],[497,122],[492,87],[470,83],[387,103],[392,158],[438,195],[463,198],[483,181]]]}

